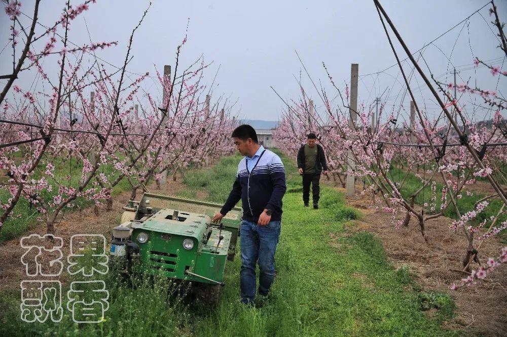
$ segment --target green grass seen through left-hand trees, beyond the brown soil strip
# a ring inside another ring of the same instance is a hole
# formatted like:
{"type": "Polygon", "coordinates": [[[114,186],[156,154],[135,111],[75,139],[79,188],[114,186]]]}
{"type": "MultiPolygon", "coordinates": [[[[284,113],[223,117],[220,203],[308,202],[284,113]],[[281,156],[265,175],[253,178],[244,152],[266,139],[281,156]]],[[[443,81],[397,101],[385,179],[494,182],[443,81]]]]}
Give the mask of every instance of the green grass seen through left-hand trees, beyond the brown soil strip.
{"type": "MultiPolygon", "coordinates": [[[[55,175],[55,180],[58,182],[66,182],[66,184],[70,184],[70,186],[78,187],[80,185],[81,180],[81,172],[83,172],[83,165],[80,161],[73,160],[72,166],[70,166],[70,161],[64,164],[62,160],[56,159],[52,161],[55,165],[55,169],[53,171],[55,175]],[[71,176],[70,182],[66,179],[67,175],[71,176]]],[[[46,171],[45,165],[41,165],[39,170],[46,171]]],[[[105,165],[103,170],[100,170],[100,173],[104,173],[107,177],[115,177],[118,175],[116,170],[114,170],[112,165],[105,165]]],[[[40,179],[39,172],[35,172],[33,179],[40,179]]],[[[58,187],[55,180],[48,180],[48,183],[52,186],[52,191],[45,191],[42,196],[48,201],[52,200],[53,196],[58,194],[58,187]]],[[[122,191],[126,191],[130,189],[130,184],[126,179],[122,179],[118,185],[116,185],[113,189],[111,195],[115,196],[122,191]]],[[[5,203],[11,194],[5,189],[0,188],[0,201],[5,203]]],[[[77,198],[73,204],[73,208],[71,210],[75,210],[77,207],[88,207],[92,204],[92,201],[85,200],[83,198],[77,198]]],[[[68,212],[66,210],[65,212],[68,212]]],[[[20,237],[26,231],[30,230],[37,223],[37,218],[40,217],[41,214],[37,212],[37,209],[32,205],[30,207],[30,203],[27,199],[21,197],[16,206],[13,209],[13,215],[8,218],[3,227],[2,231],[0,231],[0,242],[4,242],[16,237],[20,237]],[[20,216],[18,218],[18,215],[20,216]]]]}

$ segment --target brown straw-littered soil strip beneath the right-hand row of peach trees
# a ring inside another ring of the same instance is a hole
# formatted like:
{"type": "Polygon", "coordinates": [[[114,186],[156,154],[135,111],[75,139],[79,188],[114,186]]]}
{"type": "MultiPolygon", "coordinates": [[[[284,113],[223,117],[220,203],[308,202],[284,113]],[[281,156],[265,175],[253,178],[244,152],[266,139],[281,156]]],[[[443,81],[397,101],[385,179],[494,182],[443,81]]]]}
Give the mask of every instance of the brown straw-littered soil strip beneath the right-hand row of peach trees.
{"type": "MultiPolygon", "coordinates": [[[[359,189],[356,186],[356,191],[359,189]]],[[[345,194],[343,188],[336,190],[345,194]]],[[[371,208],[371,196],[348,198],[347,203],[363,214],[360,220],[348,227],[349,231],[375,233],[381,239],[388,259],[396,267],[408,266],[423,290],[438,290],[453,297],[456,310],[454,318],[446,322],[449,328],[464,330],[473,335],[507,336],[505,266],[501,265],[476,285],[458,290],[449,288],[454,281],[467,276],[460,272],[463,269],[462,260],[467,241],[462,233],[449,229],[451,219],[441,217],[428,221],[426,233],[429,243],[426,244],[414,218],[407,227],[395,229],[389,214],[371,208]]],[[[488,257],[499,256],[503,246],[496,237],[487,239],[479,251],[481,263],[486,263],[488,257]]],[[[471,267],[479,268],[476,263],[471,267]]]]}

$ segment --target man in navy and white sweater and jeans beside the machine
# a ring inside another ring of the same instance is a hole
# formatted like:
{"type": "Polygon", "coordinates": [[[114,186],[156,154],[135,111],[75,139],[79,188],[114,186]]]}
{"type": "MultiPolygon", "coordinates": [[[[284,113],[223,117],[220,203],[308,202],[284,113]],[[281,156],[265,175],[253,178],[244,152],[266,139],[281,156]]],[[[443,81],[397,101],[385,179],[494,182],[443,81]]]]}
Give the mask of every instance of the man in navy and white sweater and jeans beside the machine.
{"type": "Polygon", "coordinates": [[[266,297],[275,275],[275,250],[280,236],[285,169],[280,157],[259,145],[250,125],[240,125],[232,138],[245,157],[238,165],[232,191],[213,217],[219,222],[241,199],[240,227],[241,302],[253,305],[256,296],[256,264],[259,261],[259,294],[266,297]]]}

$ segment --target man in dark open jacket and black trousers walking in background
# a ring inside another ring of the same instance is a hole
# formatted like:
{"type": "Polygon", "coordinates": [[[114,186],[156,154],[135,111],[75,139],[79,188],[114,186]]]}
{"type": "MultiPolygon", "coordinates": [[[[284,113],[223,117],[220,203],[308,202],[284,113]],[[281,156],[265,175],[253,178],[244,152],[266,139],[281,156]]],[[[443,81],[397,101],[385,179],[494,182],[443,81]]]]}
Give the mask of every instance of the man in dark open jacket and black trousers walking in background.
{"type": "Polygon", "coordinates": [[[303,202],[308,207],[310,201],[310,184],[312,184],[313,208],[318,208],[320,198],[320,174],[328,171],[325,161],[324,149],[317,144],[317,136],[310,133],[307,136],[306,144],[301,146],[298,152],[299,174],[303,176],[303,202]]]}

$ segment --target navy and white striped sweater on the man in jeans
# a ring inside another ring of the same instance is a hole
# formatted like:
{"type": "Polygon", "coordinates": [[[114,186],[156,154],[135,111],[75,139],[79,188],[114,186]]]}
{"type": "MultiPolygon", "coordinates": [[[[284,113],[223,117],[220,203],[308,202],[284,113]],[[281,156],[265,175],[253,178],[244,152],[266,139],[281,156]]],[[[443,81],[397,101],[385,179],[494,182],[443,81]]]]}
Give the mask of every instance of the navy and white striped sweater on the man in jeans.
{"type": "Polygon", "coordinates": [[[257,222],[266,208],[273,210],[271,221],[280,221],[285,190],[285,168],[278,155],[264,150],[251,171],[244,157],[239,162],[232,191],[220,213],[226,215],[241,199],[244,220],[257,222]]]}

